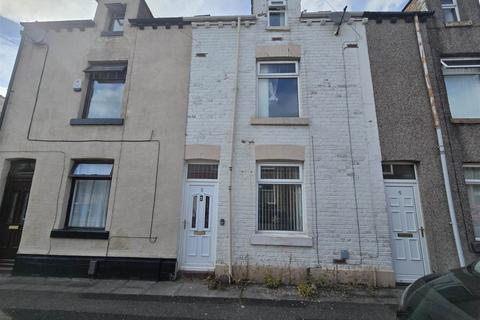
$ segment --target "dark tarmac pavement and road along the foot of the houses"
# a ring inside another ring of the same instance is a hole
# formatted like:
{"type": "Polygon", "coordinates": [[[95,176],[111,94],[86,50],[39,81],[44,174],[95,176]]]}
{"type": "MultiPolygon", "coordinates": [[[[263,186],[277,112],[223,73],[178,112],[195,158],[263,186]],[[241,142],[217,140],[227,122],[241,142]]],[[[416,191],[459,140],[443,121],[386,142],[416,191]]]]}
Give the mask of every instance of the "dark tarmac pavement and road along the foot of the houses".
{"type": "Polygon", "coordinates": [[[295,287],[209,290],[203,280],[150,282],[0,277],[0,320],[30,319],[395,319],[401,289],[295,287]]]}

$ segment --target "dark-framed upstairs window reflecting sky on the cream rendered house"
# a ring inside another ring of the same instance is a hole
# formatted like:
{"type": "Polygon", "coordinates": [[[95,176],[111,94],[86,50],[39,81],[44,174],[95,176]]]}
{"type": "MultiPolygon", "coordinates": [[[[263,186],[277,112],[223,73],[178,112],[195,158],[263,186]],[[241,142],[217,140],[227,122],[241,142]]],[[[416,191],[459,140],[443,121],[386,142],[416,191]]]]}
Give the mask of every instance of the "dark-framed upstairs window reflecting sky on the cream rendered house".
{"type": "Polygon", "coordinates": [[[89,75],[89,85],[83,118],[121,118],[127,66],[92,65],[85,72],[89,75]]]}

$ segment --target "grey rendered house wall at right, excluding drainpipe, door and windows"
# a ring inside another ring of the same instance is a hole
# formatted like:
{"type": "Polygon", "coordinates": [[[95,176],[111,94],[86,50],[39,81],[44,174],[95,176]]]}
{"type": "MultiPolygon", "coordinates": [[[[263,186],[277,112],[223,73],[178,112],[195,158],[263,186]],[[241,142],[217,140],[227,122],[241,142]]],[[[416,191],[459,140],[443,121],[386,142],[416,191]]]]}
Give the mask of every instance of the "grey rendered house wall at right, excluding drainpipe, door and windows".
{"type": "Polygon", "coordinates": [[[479,128],[471,119],[458,121],[452,118],[441,59],[478,55],[480,33],[475,25],[480,21],[480,8],[478,1],[474,0],[457,3],[462,12],[460,22],[444,22],[440,1],[411,1],[407,12],[397,16],[384,15],[383,19],[371,20],[367,27],[382,159],[384,163],[412,163],[416,167],[432,272],[459,266],[459,257],[415,32],[414,12],[408,11],[428,8],[436,12],[420,14],[424,22],[420,24],[420,30],[441,120],[460,241],[465,262],[469,263],[478,258],[479,251],[464,167],[480,162],[480,148],[476,143],[479,128]]]}

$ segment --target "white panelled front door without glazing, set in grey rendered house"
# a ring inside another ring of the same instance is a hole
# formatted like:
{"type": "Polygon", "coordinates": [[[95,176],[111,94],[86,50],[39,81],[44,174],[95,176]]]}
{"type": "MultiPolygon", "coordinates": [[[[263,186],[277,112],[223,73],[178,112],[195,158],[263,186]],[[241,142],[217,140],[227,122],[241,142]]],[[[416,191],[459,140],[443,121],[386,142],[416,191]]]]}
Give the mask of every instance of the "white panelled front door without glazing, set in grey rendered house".
{"type": "Polygon", "coordinates": [[[429,273],[417,185],[416,182],[386,182],[385,189],[396,280],[410,283],[429,273]]]}

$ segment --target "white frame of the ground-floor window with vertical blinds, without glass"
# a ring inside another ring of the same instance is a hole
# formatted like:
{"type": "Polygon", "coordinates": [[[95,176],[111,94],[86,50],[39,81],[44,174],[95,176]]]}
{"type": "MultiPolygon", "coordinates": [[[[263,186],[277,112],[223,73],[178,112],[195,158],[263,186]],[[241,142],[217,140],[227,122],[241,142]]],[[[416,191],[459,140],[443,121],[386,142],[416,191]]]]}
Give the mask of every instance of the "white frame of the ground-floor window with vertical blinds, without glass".
{"type": "Polygon", "coordinates": [[[307,234],[307,215],[305,212],[306,204],[305,204],[305,179],[303,176],[303,163],[297,162],[261,162],[257,163],[257,179],[256,179],[256,188],[255,188],[255,233],[262,234],[262,235],[291,235],[291,236],[298,236],[298,235],[306,235],[307,234]],[[298,176],[299,179],[262,179],[262,167],[298,167],[298,176]],[[258,226],[258,218],[260,215],[259,212],[259,197],[258,197],[258,190],[261,184],[273,184],[273,185],[300,185],[301,192],[302,192],[302,199],[301,199],[301,206],[302,206],[302,230],[301,231],[289,231],[289,230],[259,230],[258,226]]]}

